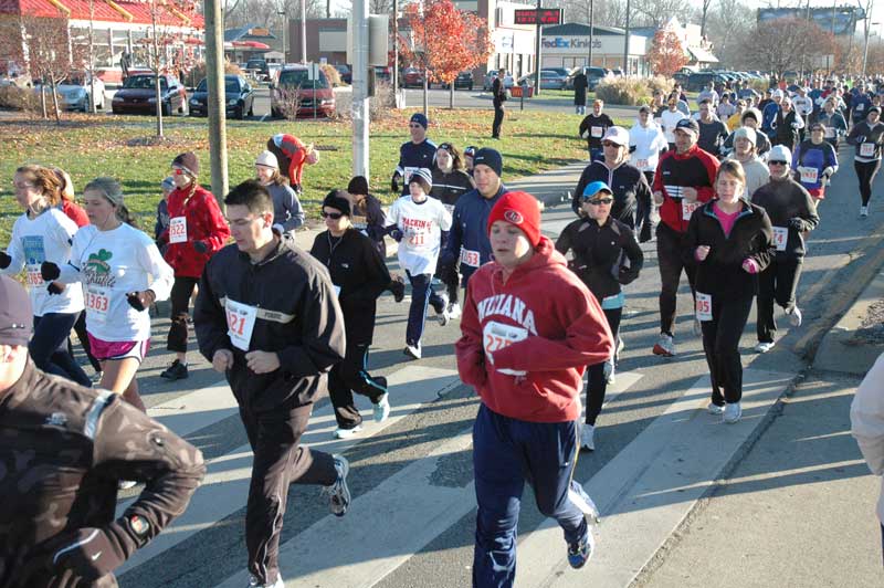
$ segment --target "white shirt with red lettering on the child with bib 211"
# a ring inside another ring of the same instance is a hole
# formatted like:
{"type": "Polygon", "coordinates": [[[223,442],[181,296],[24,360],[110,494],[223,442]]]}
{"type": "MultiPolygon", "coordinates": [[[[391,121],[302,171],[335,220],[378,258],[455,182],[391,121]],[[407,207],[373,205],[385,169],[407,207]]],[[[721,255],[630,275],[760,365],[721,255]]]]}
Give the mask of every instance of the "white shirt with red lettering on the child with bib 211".
{"type": "Polygon", "coordinates": [[[403,196],[390,208],[389,221],[403,234],[399,243],[399,265],[412,275],[434,273],[442,231],[451,230],[451,212],[444,204],[430,197],[417,203],[410,195],[403,196]]]}

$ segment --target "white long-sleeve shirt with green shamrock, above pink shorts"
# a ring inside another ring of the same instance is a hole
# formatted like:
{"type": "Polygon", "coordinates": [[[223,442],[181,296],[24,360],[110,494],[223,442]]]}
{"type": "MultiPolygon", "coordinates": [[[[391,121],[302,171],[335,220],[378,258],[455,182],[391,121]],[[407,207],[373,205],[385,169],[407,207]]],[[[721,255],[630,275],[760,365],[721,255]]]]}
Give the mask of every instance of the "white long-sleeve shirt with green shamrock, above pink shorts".
{"type": "Polygon", "coordinates": [[[62,266],[60,281],[81,282],[86,306],[86,330],[106,342],[150,338],[150,315],[136,311],[129,292],[152,290],[158,301],[169,297],[175,274],[154,240],[120,224],[99,231],[87,224],[74,235],[71,262],[62,266]]]}

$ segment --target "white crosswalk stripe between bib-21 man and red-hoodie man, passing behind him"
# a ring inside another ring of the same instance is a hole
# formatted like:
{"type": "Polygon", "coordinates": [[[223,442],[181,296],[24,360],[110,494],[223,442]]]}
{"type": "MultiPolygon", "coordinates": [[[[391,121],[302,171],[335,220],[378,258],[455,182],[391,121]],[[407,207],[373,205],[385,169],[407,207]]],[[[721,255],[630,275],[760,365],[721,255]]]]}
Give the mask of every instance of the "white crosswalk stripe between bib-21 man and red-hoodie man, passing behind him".
{"type": "MultiPolygon", "coordinates": [[[[611,401],[641,379],[619,374],[611,401]]],[[[461,486],[440,483],[444,459],[471,451],[472,428],[450,439],[370,492],[355,500],[347,516],[332,515],[283,544],[280,567],[290,586],[370,587],[392,573],[418,550],[475,507],[473,480],[461,486]],[[329,549],[334,545],[334,549],[329,549]]],[[[219,588],[245,586],[236,574],[219,588]]]]}

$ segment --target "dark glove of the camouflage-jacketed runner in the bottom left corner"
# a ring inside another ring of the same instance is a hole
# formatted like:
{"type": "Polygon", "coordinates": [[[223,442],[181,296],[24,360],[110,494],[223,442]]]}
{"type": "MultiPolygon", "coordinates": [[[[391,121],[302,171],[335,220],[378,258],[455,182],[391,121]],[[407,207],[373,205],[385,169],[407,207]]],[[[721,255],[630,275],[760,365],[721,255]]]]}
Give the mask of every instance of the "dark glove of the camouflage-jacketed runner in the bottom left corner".
{"type": "Polygon", "coordinates": [[[71,570],[84,584],[91,585],[122,566],[126,561],[126,554],[116,537],[107,531],[85,527],[56,543],[51,558],[52,569],[71,570]]]}

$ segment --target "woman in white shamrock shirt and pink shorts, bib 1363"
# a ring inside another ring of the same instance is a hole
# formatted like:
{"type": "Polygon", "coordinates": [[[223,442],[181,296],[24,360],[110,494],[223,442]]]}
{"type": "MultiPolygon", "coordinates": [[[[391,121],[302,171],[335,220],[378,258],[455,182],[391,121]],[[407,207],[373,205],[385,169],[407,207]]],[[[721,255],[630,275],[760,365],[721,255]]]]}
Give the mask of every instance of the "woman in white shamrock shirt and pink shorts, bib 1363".
{"type": "Polygon", "coordinates": [[[43,280],[82,284],[90,345],[102,364],[98,386],[144,412],[135,374],[150,347],[148,311],[169,297],[172,269],[134,227],[119,182],[92,180],[83,201],[91,224],[74,235],[71,261],[61,266],[48,261],[40,273],[43,280]]]}

